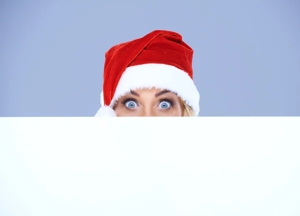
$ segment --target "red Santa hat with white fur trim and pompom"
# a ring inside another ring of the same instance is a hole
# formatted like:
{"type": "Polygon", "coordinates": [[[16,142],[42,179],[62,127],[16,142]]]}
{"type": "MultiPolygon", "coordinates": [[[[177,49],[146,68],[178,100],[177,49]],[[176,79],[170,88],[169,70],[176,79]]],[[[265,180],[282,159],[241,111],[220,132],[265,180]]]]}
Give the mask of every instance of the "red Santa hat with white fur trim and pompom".
{"type": "Polygon", "coordinates": [[[130,90],[156,87],[176,93],[199,113],[199,92],[192,79],[193,50],[176,32],[154,30],[105,53],[101,108],[95,116],[116,116],[115,102],[130,90]]]}

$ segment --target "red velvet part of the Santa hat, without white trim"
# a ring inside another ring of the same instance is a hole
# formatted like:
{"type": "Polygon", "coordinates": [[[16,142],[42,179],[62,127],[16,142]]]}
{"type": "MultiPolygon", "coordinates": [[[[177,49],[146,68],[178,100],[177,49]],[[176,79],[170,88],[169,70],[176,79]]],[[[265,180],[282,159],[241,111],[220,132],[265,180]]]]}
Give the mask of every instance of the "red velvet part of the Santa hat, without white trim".
{"type": "Polygon", "coordinates": [[[110,104],[126,67],[162,63],[173,65],[192,78],[192,55],[193,50],[182,41],[180,34],[166,30],[154,30],[141,38],[111,47],[105,53],[104,104],[110,104]]]}

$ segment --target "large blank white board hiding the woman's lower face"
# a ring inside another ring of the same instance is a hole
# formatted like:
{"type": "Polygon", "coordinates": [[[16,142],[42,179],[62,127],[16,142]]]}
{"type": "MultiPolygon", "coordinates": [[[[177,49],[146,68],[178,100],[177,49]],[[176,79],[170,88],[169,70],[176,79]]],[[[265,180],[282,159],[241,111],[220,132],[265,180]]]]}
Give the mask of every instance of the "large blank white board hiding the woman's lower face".
{"type": "Polygon", "coordinates": [[[0,118],[0,215],[300,215],[299,117],[0,118]]]}

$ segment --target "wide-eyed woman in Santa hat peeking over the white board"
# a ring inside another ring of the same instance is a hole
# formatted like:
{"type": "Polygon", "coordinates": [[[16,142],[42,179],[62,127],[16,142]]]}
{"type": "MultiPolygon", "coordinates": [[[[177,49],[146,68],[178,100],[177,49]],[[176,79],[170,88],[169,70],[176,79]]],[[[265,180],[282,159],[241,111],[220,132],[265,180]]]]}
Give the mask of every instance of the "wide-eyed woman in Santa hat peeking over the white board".
{"type": "Polygon", "coordinates": [[[198,116],[192,54],[180,34],[166,30],[111,47],[95,116],[198,116]]]}

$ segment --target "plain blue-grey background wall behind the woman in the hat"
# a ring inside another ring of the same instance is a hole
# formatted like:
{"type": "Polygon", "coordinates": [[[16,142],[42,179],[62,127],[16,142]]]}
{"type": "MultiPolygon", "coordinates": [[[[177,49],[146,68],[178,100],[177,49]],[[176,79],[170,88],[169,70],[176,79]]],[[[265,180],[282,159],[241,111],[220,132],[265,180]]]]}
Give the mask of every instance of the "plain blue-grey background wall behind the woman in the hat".
{"type": "Polygon", "coordinates": [[[201,116],[300,115],[299,0],[0,1],[0,116],[92,116],[104,52],[154,30],[194,49],[201,116]]]}

